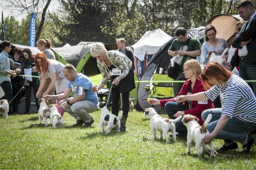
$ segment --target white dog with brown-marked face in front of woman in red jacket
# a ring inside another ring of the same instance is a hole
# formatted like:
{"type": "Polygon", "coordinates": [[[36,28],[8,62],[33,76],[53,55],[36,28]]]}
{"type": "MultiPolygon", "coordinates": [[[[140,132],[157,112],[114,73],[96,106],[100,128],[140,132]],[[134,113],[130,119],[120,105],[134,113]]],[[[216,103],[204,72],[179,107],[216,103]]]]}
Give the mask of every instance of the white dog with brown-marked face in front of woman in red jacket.
{"type": "Polygon", "coordinates": [[[174,123],[179,121],[182,116],[176,119],[169,119],[166,117],[161,117],[156,113],[153,107],[146,108],[144,112],[145,117],[150,118],[150,129],[152,131],[153,139],[156,140],[156,131],[160,132],[160,138],[163,139],[163,134],[166,138],[166,143],[170,143],[168,132],[172,132],[173,141],[176,142],[176,131],[174,123]]]}

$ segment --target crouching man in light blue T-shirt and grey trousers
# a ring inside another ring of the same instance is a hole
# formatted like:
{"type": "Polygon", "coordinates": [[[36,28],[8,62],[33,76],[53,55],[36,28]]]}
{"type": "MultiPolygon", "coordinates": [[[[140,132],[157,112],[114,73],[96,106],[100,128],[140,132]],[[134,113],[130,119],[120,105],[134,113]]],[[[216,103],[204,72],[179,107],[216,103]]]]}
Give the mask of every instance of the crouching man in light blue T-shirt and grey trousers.
{"type": "Polygon", "coordinates": [[[69,81],[64,94],[46,95],[46,100],[52,98],[61,100],[60,106],[76,119],[74,126],[90,127],[94,122],[88,113],[96,111],[98,96],[92,92],[92,81],[82,73],[77,73],[71,64],[66,64],[63,69],[65,78],[69,81]],[[68,98],[74,92],[73,98],[68,98]]]}

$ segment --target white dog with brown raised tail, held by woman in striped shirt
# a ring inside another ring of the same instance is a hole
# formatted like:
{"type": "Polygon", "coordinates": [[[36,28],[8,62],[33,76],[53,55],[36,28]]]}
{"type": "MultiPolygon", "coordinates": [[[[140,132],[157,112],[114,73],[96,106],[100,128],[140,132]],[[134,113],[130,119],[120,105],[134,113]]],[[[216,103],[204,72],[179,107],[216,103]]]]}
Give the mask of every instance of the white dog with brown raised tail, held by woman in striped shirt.
{"type": "MultiPolygon", "coordinates": [[[[212,115],[209,114],[204,121],[204,124],[200,126],[198,124],[198,118],[194,115],[184,115],[182,118],[182,123],[187,127],[188,134],[187,134],[187,153],[190,153],[192,141],[196,143],[196,150],[198,157],[201,158],[202,154],[205,151],[204,143],[202,139],[204,139],[205,135],[210,134],[209,131],[206,129],[208,123],[212,119],[212,115]],[[200,150],[202,148],[202,150],[200,150]]],[[[214,148],[212,146],[212,142],[209,143],[211,156],[214,157],[214,148]]]]}

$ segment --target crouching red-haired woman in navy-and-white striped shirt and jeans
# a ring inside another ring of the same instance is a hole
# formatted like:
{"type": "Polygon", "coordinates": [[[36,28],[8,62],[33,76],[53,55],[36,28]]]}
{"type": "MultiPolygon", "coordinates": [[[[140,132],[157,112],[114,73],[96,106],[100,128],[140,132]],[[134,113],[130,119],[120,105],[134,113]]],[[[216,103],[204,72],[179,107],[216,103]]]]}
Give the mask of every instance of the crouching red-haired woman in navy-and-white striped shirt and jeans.
{"type": "Polygon", "coordinates": [[[220,95],[222,108],[208,109],[202,113],[205,121],[208,114],[212,114],[211,123],[207,129],[210,132],[204,138],[204,143],[212,139],[224,139],[224,145],[219,150],[237,149],[237,143],[242,143],[241,154],[250,152],[254,138],[250,133],[256,130],[256,98],[252,89],[240,77],[232,74],[216,61],[206,64],[201,74],[204,87],[213,84],[206,92],[189,96],[177,96],[180,103],[185,100],[214,100],[220,95]]]}

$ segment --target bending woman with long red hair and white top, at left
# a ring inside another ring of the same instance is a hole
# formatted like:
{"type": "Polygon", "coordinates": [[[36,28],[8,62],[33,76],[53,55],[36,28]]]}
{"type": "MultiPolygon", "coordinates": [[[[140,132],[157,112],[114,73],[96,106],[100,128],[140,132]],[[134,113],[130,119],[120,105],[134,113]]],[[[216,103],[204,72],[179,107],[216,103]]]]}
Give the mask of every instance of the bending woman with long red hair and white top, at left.
{"type": "MultiPolygon", "coordinates": [[[[38,92],[36,93],[36,97],[37,98],[40,97],[41,91],[45,85],[46,72],[49,72],[50,78],[52,81],[49,87],[47,88],[46,92],[44,92],[43,96],[46,96],[50,92],[50,90],[54,87],[54,85],[55,85],[57,94],[64,93],[68,86],[68,80],[64,77],[64,74],[63,74],[64,64],[56,60],[47,59],[44,53],[37,53],[35,55],[35,61],[36,61],[35,62],[36,70],[38,70],[38,72],[42,76],[38,92]]],[[[59,105],[60,100],[58,100],[57,103],[59,105]]],[[[61,107],[58,107],[58,111],[63,116],[64,110],[61,109],[61,107]]]]}

